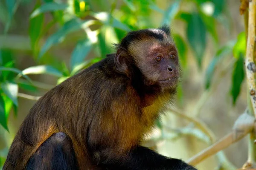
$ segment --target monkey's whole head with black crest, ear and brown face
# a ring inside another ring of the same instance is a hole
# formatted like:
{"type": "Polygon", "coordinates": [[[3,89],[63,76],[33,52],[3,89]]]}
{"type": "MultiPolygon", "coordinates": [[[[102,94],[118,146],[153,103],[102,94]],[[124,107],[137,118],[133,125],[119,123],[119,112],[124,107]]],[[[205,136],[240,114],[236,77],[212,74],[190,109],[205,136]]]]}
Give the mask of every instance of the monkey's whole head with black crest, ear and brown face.
{"type": "Polygon", "coordinates": [[[140,79],[144,85],[175,89],[180,67],[170,28],[162,26],[128,33],[117,45],[115,65],[119,72],[140,79]]]}

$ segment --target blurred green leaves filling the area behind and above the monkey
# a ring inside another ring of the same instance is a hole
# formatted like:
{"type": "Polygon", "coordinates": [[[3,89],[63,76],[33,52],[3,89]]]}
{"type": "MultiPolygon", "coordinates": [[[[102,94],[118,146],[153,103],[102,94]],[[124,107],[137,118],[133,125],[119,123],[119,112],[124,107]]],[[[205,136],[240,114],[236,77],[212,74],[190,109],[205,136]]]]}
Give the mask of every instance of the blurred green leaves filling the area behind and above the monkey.
{"type": "MultiPolygon", "coordinates": [[[[18,97],[33,99],[33,96],[20,94],[20,90],[25,94],[37,94],[38,89],[48,89],[47,85],[34,81],[30,75],[57,77],[57,85],[113,52],[112,43],[119,42],[128,31],[157,28],[162,24],[172,27],[185,75],[190,52],[198,70],[204,71],[202,63],[207,42],[212,41],[215,54],[211,54],[205,68],[205,91],[215,81],[216,67],[223,65],[224,61],[227,65],[229,61],[235,63],[231,67],[233,76],[230,86],[235,105],[244,80],[246,39],[244,32],[241,32],[237,39],[220,44],[216,26],[222,25],[227,32],[232,29],[226,0],[172,0],[166,3],[168,6],[165,8],[159,4],[161,0],[0,0],[0,26],[3,26],[0,29],[0,125],[9,131],[10,113],[17,116],[19,109],[18,97]],[[20,26],[16,11],[27,5],[33,6],[27,19],[27,34],[13,34],[12,30],[20,26]],[[157,17],[152,16],[156,13],[157,17]],[[176,20],[183,22],[184,34],[172,26],[176,20]],[[62,60],[51,51],[52,48],[61,51],[63,44],[73,45],[69,61],[62,60]],[[28,68],[17,68],[17,53],[31,56],[35,64],[28,68]],[[230,54],[233,54],[232,58],[230,54]]],[[[181,86],[177,96],[182,106],[181,86]]],[[[157,122],[157,126],[161,127],[161,123],[157,122]]],[[[0,150],[0,167],[7,152],[7,147],[0,150]]]]}

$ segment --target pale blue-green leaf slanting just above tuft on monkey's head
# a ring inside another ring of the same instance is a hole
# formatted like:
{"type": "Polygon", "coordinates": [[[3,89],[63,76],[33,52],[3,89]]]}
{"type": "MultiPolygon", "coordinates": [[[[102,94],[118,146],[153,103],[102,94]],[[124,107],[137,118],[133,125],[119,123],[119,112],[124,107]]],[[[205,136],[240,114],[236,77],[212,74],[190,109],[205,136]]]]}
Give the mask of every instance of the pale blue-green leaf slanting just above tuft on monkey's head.
{"type": "Polygon", "coordinates": [[[171,5],[166,9],[166,11],[163,14],[162,25],[163,24],[170,25],[179,10],[180,1],[176,1],[175,3],[170,3],[170,4],[171,5]]]}

